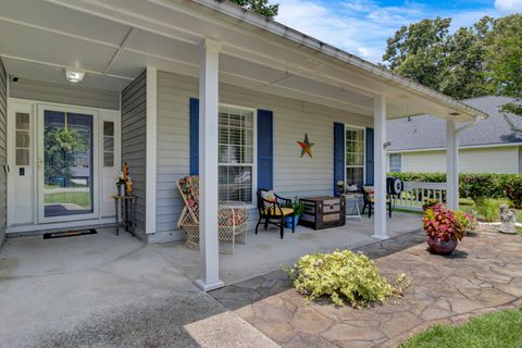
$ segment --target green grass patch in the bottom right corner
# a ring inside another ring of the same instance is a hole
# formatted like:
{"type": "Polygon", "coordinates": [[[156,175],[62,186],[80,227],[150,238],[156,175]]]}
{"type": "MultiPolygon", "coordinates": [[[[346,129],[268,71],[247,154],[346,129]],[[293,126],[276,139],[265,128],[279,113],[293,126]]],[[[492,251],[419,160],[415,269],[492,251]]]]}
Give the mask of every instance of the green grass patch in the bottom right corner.
{"type": "Polygon", "coordinates": [[[460,326],[439,325],[406,340],[401,348],[522,347],[522,309],[472,318],[460,326]]]}

